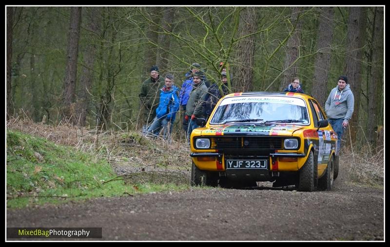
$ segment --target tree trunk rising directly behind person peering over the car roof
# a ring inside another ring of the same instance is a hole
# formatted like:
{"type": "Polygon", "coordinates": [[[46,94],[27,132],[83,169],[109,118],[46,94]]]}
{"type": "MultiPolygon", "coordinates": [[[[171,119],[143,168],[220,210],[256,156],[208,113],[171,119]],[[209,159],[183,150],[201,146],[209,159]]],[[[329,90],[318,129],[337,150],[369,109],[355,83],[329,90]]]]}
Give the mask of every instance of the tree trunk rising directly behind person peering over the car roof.
{"type": "Polygon", "coordinates": [[[300,39],[299,39],[300,28],[301,28],[301,21],[299,20],[300,10],[301,10],[300,7],[292,8],[291,23],[293,25],[296,25],[296,27],[291,37],[287,41],[286,58],[283,67],[284,70],[283,79],[279,87],[280,91],[282,91],[291,83],[291,80],[296,75],[296,71],[297,71],[297,63],[295,64],[293,63],[298,58],[298,50],[300,44],[300,39]]]}

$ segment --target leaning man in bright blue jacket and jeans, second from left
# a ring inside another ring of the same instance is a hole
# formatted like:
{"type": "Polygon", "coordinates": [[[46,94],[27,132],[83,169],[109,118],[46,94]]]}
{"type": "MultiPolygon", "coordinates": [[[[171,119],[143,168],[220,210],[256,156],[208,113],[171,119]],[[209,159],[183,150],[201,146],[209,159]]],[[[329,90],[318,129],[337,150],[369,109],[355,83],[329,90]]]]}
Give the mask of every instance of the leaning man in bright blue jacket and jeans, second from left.
{"type": "Polygon", "coordinates": [[[168,73],[165,76],[165,85],[159,90],[160,101],[158,107],[156,108],[156,117],[147,131],[148,134],[158,136],[161,128],[163,128],[163,136],[165,140],[168,140],[171,136],[176,112],[179,109],[179,88],[173,84],[174,76],[173,74],[168,73]]]}

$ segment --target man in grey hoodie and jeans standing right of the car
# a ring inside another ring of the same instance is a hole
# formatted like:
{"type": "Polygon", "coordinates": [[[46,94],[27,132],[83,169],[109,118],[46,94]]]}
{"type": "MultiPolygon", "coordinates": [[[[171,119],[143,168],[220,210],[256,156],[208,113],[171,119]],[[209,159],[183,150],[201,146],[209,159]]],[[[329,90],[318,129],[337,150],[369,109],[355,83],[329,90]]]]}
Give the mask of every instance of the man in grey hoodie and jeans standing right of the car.
{"type": "Polygon", "coordinates": [[[348,126],[348,121],[352,117],[354,98],[347,76],[338,78],[337,86],[331,90],[325,103],[325,111],[328,115],[329,123],[337,134],[337,150],[340,150],[341,138],[344,129],[348,126]]]}

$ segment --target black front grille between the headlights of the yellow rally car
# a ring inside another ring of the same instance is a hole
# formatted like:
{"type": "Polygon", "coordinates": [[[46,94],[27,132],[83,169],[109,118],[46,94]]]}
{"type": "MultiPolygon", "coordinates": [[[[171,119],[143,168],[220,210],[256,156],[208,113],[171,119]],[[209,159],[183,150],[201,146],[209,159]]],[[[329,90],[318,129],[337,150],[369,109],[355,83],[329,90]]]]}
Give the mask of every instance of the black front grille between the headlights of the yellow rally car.
{"type": "Polygon", "coordinates": [[[272,150],[282,149],[283,137],[216,137],[215,149],[272,150]]]}

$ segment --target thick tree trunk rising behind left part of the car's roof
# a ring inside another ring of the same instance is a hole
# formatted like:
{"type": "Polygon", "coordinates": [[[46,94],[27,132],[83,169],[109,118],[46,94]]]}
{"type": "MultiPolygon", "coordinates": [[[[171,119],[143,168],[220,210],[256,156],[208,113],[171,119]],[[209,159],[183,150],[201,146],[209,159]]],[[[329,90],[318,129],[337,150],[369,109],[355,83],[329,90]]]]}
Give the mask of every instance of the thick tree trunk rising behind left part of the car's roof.
{"type": "MultiPolygon", "coordinates": [[[[240,12],[238,37],[250,35],[257,30],[256,12],[253,7],[245,7],[240,12]]],[[[254,35],[240,39],[236,46],[234,64],[234,90],[251,91],[254,66],[254,35]]]]}

